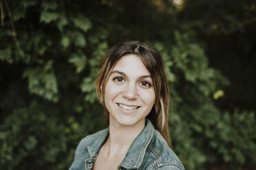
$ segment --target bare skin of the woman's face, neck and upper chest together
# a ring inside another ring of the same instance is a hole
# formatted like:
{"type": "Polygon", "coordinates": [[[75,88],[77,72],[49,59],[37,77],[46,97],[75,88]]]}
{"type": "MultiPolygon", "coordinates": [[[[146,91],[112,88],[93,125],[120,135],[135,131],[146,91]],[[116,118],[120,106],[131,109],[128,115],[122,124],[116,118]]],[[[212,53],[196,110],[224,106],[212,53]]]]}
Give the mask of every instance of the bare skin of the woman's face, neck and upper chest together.
{"type": "Polygon", "coordinates": [[[151,74],[138,56],[123,56],[105,86],[109,137],[100,148],[93,169],[117,169],[131,143],[145,127],[155,102],[151,74]]]}

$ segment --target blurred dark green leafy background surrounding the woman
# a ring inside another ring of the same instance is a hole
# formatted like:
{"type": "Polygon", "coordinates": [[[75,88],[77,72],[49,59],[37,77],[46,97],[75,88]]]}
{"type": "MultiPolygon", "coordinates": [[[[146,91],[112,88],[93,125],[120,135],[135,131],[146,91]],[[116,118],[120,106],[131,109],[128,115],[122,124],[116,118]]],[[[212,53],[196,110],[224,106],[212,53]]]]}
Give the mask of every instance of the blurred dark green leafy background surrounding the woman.
{"type": "Polygon", "coordinates": [[[112,45],[145,40],[171,88],[186,169],[254,169],[255,1],[0,0],[0,169],[67,169],[105,127],[94,80],[112,45]]]}

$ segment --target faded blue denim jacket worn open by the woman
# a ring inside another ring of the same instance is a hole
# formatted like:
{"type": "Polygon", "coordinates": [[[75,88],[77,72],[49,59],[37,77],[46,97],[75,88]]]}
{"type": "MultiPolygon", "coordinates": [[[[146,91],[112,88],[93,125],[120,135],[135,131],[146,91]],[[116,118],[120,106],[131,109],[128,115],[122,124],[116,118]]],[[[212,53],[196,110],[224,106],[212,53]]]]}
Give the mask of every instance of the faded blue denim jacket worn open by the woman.
{"type": "MultiPolygon", "coordinates": [[[[108,135],[109,128],[83,138],[76,148],[70,170],[92,169],[108,135]]],[[[184,167],[160,132],[147,119],[144,129],[131,144],[118,169],[184,170],[184,167]]]]}

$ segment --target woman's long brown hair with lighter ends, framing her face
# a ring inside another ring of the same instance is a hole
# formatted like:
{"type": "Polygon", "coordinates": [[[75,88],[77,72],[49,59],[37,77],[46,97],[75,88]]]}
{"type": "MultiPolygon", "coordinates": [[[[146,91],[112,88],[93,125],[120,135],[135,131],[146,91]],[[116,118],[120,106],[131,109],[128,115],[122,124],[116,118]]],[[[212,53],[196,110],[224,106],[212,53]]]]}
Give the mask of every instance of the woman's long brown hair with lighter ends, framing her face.
{"type": "Polygon", "coordinates": [[[104,94],[107,80],[116,62],[128,54],[134,54],[142,60],[147,67],[153,80],[153,87],[156,93],[156,101],[151,109],[147,119],[153,123],[154,127],[162,134],[165,141],[171,147],[171,138],[169,134],[168,115],[169,115],[169,84],[164,71],[164,64],[160,53],[146,42],[127,41],[115,45],[107,51],[103,64],[96,78],[96,93],[100,102],[105,108],[106,123],[109,125],[109,112],[105,106],[104,94]]]}

